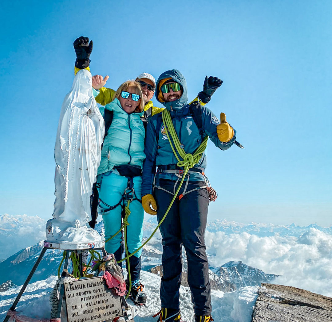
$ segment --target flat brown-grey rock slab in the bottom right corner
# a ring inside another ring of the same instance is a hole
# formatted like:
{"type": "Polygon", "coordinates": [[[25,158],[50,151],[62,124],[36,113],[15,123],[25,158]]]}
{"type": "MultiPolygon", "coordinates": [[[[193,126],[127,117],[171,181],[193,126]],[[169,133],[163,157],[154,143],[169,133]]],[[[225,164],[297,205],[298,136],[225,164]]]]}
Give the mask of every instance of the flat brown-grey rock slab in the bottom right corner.
{"type": "Polygon", "coordinates": [[[332,322],[332,298],[295,287],[262,284],[252,322],[332,322]]]}

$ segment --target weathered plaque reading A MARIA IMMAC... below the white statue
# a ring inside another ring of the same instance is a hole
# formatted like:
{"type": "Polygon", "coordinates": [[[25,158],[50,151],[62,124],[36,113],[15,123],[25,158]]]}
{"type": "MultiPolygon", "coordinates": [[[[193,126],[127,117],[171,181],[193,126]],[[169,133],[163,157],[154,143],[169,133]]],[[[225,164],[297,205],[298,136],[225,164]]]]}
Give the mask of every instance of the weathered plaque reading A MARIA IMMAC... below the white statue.
{"type": "Polygon", "coordinates": [[[100,277],[64,284],[68,322],[99,322],[123,315],[119,295],[100,277]]]}

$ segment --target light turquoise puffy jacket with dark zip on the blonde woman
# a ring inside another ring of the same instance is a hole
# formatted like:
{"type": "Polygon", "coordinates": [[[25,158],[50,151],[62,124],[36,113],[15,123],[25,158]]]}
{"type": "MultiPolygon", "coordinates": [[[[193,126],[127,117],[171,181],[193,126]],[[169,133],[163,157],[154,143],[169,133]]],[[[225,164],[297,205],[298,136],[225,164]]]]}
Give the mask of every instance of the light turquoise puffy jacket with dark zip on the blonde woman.
{"type": "Polygon", "coordinates": [[[104,139],[98,174],[108,172],[115,165],[130,164],[142,167],[145,131],[140,116],[144,113],[125,112],[116,98],[105,106],[113,111],[112,124],[104,139]]]}

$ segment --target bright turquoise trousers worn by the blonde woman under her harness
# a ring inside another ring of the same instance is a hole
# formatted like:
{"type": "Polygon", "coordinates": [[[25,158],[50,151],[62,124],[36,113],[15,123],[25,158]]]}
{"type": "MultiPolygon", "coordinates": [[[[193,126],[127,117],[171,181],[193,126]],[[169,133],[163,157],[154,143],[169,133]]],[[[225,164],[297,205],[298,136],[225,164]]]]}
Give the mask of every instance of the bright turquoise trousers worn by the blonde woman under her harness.
{"type": "MultiPolygon", "coordinates": [[[[110,207],[119,203],[124,195],[125,188],[128,187],[128,178],[120,176],[117,170],[109,171],[98,176],[99,199],[101,202],[98,206],[99,215],[103,216],[105,227],[105,240],[113,236],[121,228],[121,213],[122,206],[127,204],[126,200],[121,202],[115,209],[104,212],[110,207]],[[103,211],[104,210],[104,211],[103,211]]],[[[133,178],[134,199],[130,202],[127,226],[127,247],[129,253],[133,253],[142,245],[143,237],[143,219],[144,210],[141,199],[141,185],[142,177],[133,178]],[[139,200],[135,200],[135,199],[139,200]]],[[[105,249],[108,253],[115,253],[121,247],[122,233],[118,233],[110,241],[106,242],[105,249]]],[[[140,257],[142,249],[136,252],[133,256],[140,257]]]]}

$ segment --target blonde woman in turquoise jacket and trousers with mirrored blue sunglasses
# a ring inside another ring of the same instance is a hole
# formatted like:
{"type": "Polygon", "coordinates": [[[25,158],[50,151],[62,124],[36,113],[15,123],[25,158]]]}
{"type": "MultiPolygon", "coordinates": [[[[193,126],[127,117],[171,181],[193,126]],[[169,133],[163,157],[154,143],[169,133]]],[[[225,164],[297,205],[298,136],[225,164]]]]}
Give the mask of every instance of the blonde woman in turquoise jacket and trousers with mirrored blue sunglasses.
{"type": "MultiPolygon", "coordinates": [[[[103,216],[105,239],[121,228],[124,207],[130,202],[126,234],[129,254],[141,246],[144,210],[141,204],[142,166],[145,159],[145,130],[140,117],[144,112],[141,86],[136,81],[124,82],[116,91],[115,99],[105,106],[104,118],[112,119],[105,129],[101,162],[98,168],[98,213],[103,216]]],[[[105,249],[122,259],[124,242],[122,232],[106,242],[105,249]]],[[[129,258],[131,275],[130,297],[135,304],[145,304],[146,295],[139,282],[141,250],[129,258]]],[[[128,266],[128,265],[126,265],[128,266]]],[[[128,271],[128,268],[127,268],[128,271]]],[[[129,288],[128,279],[126,281],[129,288]]]]}

